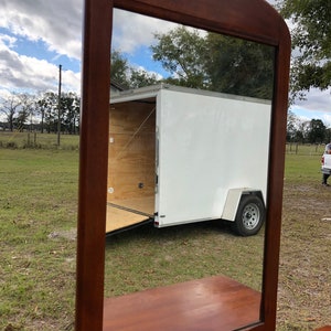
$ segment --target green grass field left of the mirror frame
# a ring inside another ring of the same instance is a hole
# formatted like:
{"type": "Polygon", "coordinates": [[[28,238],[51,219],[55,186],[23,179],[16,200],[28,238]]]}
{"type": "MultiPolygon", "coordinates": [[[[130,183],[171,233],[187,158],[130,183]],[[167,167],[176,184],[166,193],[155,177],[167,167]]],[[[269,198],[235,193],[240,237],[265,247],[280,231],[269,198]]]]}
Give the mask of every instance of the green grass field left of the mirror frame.
{"type": "Polygon", "coordinates": [[[75,151],[0,149],[0,330],[73,322],[77,159],[75,151]]]}

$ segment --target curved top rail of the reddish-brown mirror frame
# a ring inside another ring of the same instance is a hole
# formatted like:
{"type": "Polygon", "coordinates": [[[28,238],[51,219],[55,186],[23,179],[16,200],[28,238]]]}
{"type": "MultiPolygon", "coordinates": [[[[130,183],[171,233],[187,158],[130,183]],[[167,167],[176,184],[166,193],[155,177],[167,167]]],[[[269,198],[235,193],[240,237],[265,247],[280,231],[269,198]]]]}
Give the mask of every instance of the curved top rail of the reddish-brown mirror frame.
{"type": "Polygon", "coordinates": [[[278,46],[289,42],[287,25],[278,12],[264,0],[205,1],[120,1],[114,7],[169,20],[207,31],[278,46]]]}

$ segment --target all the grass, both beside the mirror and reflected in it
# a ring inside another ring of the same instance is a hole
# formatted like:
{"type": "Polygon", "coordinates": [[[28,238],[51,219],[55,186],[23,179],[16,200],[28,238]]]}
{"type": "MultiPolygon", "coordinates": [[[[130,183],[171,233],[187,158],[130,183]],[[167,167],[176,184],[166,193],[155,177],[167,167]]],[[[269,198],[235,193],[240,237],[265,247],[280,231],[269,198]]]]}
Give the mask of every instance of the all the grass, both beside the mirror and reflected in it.
{"type": "MultiPolygon", "coordinates": [[[[299,151],[286,158],[277,330],[331,324],[331,189],[321,151],[299,151]]],[[[0,330],[73,330],[78,152],[0,148],[0,330]]],[[[263,238],[215,222],[117,234],[105,295],[218,274],[258,289],[263,238]]]]}

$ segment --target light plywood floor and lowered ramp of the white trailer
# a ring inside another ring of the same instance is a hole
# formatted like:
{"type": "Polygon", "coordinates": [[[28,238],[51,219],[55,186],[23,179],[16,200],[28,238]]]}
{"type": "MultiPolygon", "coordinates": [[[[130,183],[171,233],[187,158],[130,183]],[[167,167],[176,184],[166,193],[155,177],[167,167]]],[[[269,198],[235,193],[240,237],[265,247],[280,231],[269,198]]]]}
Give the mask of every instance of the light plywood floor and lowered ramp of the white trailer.
{"type": "Polygon", "coordinates": [[[153,196],[111,201],[111,203],[107,204],[106,233],[110,233],[143,222],[152,217],[153,214],[153,196]],[[143,213],[143,215],[131,212],[129,210],[139,211],[143,213]]]}

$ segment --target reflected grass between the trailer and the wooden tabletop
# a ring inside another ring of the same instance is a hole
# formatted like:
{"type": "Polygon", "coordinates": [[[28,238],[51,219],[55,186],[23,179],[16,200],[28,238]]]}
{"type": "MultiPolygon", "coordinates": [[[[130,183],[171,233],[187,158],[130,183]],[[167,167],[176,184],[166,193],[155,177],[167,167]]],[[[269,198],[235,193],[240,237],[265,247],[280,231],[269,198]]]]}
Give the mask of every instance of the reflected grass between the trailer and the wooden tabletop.
{"type": "Polygon", "coordinates": [[[106,297],[226,275],[260,289],[263,232],[234,236],[220,222],[158,229],[146,225],[106,243],[106,297]]]}

